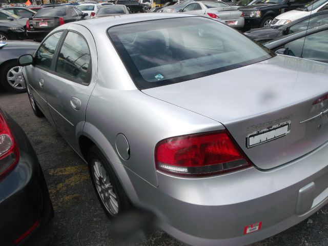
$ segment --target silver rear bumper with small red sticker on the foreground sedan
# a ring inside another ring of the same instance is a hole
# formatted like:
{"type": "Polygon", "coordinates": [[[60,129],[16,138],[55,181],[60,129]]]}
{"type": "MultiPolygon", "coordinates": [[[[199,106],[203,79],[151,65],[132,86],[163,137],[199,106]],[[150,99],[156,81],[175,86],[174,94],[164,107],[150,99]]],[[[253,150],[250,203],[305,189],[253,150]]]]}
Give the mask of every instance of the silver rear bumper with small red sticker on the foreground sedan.
{"type": "Polygon", "coordinates": [[[132,201],[153,211],[170,235],[191,245],[245,245],[294,226],[327,203],[327,155],[325,144],[267,171],[252,167],[208,178],[158,172],[158,188],[125,172],[135,187],[132,201]],[[260,230],[244,234],[257,222],[260,230]]]}

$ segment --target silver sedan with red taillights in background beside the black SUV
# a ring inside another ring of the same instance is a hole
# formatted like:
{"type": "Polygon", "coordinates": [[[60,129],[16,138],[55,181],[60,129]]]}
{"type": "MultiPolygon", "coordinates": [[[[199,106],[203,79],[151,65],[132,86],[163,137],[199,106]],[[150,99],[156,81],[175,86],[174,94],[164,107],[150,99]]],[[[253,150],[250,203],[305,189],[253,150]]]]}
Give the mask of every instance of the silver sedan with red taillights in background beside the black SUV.
{"type": "Polygon", "coordinates": [[[194,2],[192,4],[187,5],[179,12],[206,16],[238,29],[243,28],[245,24],[243,12],[236,10],[233,7],[230,7],[223,2],[194,2]]]}

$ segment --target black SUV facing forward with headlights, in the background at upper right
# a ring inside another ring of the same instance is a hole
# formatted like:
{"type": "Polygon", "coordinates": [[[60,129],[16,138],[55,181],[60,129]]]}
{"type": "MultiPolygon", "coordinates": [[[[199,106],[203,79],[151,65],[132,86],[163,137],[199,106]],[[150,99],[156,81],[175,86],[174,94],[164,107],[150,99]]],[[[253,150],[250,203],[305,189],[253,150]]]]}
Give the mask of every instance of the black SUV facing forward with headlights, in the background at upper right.
{"type": "Polygon", "coordinates": [[[244,13],[244,29],[270,26],[279,14],[304,6],[308,0],[262,0],[255,5],[242,7],[244,13]]]}

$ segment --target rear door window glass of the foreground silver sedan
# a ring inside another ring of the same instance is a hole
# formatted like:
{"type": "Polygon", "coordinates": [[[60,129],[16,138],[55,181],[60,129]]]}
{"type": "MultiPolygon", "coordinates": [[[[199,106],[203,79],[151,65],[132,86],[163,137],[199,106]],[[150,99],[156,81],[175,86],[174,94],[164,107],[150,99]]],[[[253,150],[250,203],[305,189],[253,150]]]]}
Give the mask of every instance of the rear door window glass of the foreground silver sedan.
{"type": "Polygon", "coordinates": [[[81,83],[88,82],[90,63],[90,50],[85,39],[75,32],[69,32],[59,52],[56,72],[81,83]]]}

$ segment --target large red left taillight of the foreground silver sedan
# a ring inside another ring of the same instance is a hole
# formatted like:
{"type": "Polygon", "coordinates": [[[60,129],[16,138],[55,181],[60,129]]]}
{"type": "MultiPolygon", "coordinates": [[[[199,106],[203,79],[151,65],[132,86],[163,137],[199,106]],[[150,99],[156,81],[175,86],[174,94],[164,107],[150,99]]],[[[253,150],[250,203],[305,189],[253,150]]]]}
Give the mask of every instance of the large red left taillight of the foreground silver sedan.
{"type": "Polygon", "coordinates": [[[251,166],[227,131],[172,137],[158,142],[156,168],[179,175],[231,172],[251,166]]]}

